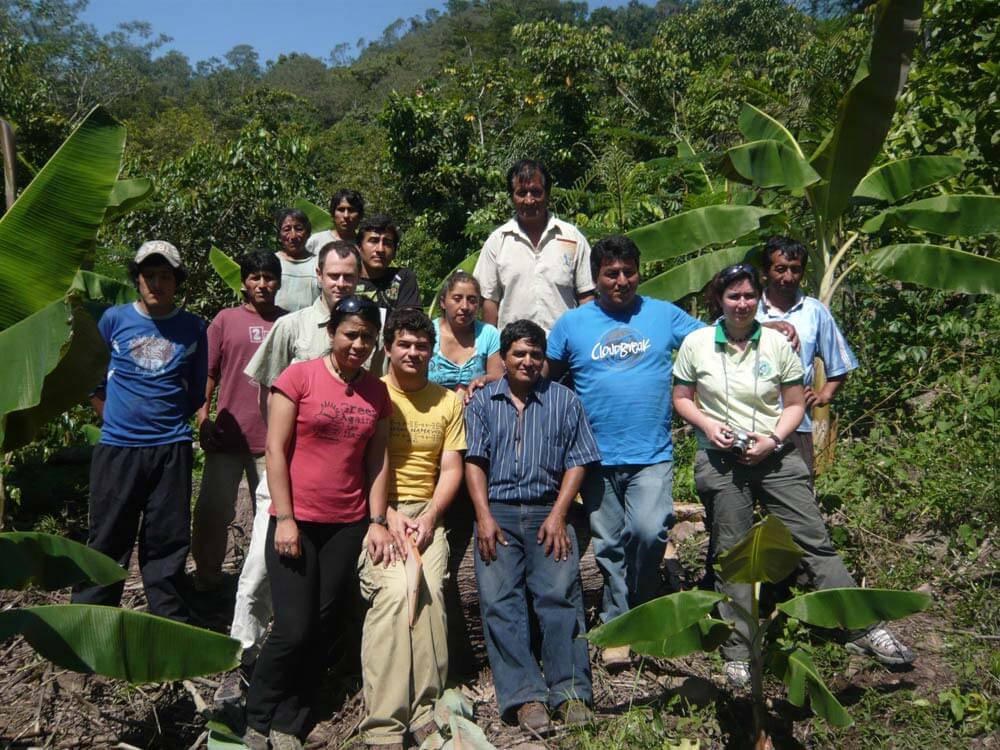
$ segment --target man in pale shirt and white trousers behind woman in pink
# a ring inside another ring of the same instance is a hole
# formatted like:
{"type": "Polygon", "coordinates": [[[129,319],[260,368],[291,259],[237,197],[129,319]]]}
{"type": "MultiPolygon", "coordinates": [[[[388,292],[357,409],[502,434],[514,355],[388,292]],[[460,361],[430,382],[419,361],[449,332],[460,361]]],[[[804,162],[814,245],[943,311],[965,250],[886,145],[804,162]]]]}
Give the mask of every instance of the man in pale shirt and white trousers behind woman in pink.
{"type": "MultiPolygon", "coordinates": [[[[361,256],[353,242],[335,240],[324,245],[316,275],[321,294],[309,307],[278,318],[244,373],[260,388],[260,406],[267,421],[267,394],[271,384],[293,362],[322,357],[330,349],[326,323],[333,306],[354,294],[361,275],[361,256]]],[[[264,552],[271,495],[262,472],[257,484],[253,532],[236,589],[236,606],[229,634],[243,647],[241,665],[223,679],[215,693],[220,706],[239,703],[271,620],[271,591],[264,552]]]]}

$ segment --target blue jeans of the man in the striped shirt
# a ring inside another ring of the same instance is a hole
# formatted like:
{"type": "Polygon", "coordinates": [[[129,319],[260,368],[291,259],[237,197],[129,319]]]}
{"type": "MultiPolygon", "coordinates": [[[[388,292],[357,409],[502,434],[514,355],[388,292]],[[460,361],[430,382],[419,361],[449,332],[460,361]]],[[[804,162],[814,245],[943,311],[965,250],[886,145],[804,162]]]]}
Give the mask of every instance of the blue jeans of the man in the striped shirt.
{"type": "Polygon", "coordinates": [[[561,562],[551,554],[546,557],[536,541],[551,510],[550,504],[490,503],[507,546],[498,544],[497,559],[488,565],[473,547],[486,653],[501,715],[530,701],[550,708],[570,698],[592,701],[587,642],[579,638],[586,627],[576,533],[567,525],[572,550],[561,562]],[[541,629],[544,676],[531,649],[529,600],[541,629]]]}

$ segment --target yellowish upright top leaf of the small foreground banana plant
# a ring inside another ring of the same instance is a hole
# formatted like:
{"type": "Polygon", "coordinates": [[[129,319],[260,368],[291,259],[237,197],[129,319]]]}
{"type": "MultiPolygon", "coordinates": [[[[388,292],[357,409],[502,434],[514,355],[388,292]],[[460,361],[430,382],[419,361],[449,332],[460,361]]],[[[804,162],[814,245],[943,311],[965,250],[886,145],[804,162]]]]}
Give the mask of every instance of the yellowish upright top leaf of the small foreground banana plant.
{"type": "Polygon", "coordinates": [[[802,559],[802,548],[777,516],[769,515],[751,527],[740,541],[719,555],[718,567],[729,583],[778,583],[802,559]]]}

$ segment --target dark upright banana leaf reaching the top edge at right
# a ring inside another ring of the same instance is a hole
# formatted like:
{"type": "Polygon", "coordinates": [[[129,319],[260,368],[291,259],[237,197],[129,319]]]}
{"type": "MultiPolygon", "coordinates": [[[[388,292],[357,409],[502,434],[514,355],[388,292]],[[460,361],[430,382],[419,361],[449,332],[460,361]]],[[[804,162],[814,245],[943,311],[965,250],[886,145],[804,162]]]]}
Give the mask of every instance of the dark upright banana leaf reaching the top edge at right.
{"type": "Polygon", "coordinates": [[[813,206],[826,221],[844,212],[882,150],[909,75],[922,11],[923,0],[880,0],[874,6],[868,54],[840,102],[837,124],[810,159],[823,178],[810,189],[813,206]]]}

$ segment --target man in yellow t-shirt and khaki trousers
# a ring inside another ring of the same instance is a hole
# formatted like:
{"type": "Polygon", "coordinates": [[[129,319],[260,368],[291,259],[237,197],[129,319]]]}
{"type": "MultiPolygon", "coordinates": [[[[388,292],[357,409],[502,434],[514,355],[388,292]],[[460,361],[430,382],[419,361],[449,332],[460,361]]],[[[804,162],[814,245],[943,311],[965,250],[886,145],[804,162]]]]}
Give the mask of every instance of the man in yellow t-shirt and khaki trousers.
{"type": "Polygon", "coordinates": [[[370,747],[402,750],[407,733],[420,745],[437,729],[434,701],[448,674],[449,550],[438,522],[462,482],[465,421],[461,399],[427,379],[434,352],[430,319],[417,308],[397,310],[386,322],[384,340],[389,372],[382,380],[392,400],[385,523],[398,556],[418,556],[422,566],[416,577],[412,561],[373,565],[361,555],[361,591],[371,604],[361,640],[368,709],[361,732],[370,747]],[[414,582],[415,605],[408,596],[414,582]]]}

